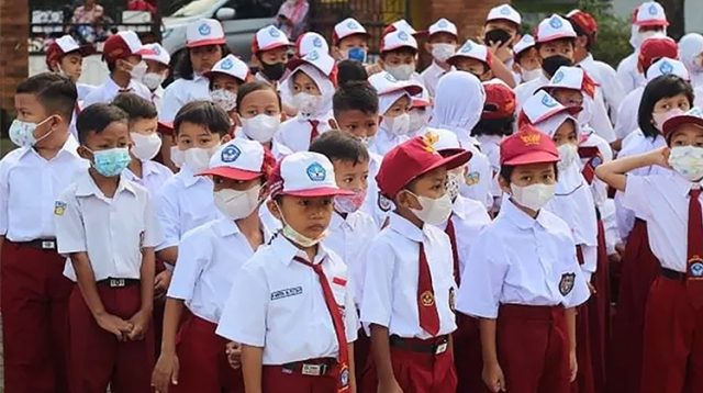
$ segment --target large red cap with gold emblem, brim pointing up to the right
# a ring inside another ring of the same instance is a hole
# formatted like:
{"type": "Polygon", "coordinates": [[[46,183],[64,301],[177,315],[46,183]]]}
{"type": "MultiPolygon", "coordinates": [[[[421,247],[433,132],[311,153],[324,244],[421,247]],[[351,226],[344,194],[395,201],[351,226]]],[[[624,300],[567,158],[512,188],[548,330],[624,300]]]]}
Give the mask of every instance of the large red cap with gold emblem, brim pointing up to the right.
{"type": "Polygon", "coordinates": [[[466,150],[442,157],[434,147],[438,139],[429,132],[406,141],[386,154],[376,176],[378,188],[386,198],[392,200],[411,181],[434,169],[454,169],[469,160],[470,155],[466,150]]]}

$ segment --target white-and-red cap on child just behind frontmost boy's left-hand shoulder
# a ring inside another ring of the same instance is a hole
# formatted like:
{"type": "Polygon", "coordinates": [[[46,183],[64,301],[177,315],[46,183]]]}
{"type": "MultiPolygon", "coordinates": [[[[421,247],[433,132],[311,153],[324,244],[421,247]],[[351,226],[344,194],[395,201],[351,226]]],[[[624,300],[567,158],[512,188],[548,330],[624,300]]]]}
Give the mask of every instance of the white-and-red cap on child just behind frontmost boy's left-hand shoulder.
{"type": "Polygon", "coordinates": [[[208,169],[198,175],[247,181],[268,176],[275,165],[276,159],[260,143],[234,138],[222,145],[210,158],[208,169]]]}

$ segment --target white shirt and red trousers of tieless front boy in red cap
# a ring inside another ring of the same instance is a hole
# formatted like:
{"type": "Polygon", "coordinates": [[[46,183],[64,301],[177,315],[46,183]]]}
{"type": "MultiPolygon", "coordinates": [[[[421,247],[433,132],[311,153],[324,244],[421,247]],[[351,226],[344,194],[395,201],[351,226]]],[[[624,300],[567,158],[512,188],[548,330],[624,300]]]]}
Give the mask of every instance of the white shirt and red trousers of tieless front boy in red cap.
{"type": "Polygon", "coordinates": [[[563,308],[588,299],[569,226],[546,210],[533,218],[506,198],[476,240],[457,310],[498,319],[498,359],[510,392],[568,392],[563,308]]]}

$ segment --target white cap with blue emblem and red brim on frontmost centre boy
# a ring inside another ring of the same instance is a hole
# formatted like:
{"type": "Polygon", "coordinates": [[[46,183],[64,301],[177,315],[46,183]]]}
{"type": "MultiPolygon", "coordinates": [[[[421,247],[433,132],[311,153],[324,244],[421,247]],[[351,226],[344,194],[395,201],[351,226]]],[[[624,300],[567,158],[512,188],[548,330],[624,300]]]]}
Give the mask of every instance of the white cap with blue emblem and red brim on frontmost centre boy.
{"type": "Polygon", "coordinates": [[[350,195],[337,187],[334,167],[319,153],[298,151],[278,162],[269,178],[271,199],[279,195],[301,198],[350,195]]]}

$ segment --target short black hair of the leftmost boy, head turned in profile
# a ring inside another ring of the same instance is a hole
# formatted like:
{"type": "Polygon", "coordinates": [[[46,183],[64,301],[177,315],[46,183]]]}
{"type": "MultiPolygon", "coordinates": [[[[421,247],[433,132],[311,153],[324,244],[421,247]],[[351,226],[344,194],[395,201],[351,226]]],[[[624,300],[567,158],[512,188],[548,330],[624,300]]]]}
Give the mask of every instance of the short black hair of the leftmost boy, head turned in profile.
{"type": "Polygon", "coordinates": [[[49,114],[60,114],[70,123],[78,100],[76,85],[56,72],[42,72],[26,78],[18,86],[18,94],[34,94],[49,114]]]}

